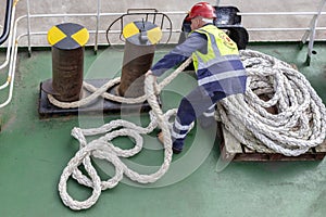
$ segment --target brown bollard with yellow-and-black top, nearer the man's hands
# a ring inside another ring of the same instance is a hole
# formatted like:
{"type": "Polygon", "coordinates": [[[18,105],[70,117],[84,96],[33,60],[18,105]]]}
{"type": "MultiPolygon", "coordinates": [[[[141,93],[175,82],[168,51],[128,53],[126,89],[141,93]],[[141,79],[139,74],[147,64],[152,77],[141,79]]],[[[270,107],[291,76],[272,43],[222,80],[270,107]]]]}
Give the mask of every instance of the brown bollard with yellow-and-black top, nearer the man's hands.
{"type": "Polygon", "coordinates": [[[136,98],[143,95],[143,74],[152,65],[162,31],[153,23],[136,21],[124,27],[123,36],[126,44],[117,94],[136,98]]]}

